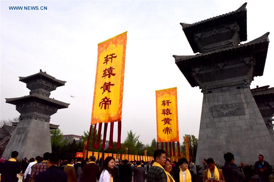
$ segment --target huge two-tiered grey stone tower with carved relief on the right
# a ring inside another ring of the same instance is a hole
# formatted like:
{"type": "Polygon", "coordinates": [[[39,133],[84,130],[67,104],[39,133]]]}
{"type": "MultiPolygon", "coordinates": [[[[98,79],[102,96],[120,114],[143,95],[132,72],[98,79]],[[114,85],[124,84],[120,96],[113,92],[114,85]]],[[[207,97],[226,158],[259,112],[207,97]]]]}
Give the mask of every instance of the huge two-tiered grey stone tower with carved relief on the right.
{"type": "Polygon", "coordinates": [[[263,75],[269,33],[240,44],[247,40],[246,5],[197,23],[180,23],[198,54],[174,55],[175,63],[204,94],[197,164],[211,157],[223,165],[226,152],[234,154],[237,164],[254,164],[259,154],[274,163],[274,143],[249,87],[263,75]]]}

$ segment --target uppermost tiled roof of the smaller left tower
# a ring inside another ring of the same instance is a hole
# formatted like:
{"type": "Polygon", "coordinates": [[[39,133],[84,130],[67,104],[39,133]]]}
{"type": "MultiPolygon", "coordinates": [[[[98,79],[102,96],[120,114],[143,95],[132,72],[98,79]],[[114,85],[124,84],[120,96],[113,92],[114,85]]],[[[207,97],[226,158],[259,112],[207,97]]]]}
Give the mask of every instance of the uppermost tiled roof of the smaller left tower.
{"type": "Polygon", "coordinates": [[[37,79],[37,78],[44,78],[46,80],[54,82],[57,85],[57,87],[64,86],[65,83],[66,83],[66,81],[58,80],[55,77],[47,74],[46,72],[43,72],[42,70],[40,70],[39,73],[30,75],[30,76],[27,76],[27,77],[19,77],[19,81],[22,81],[24,83],[28,83],[29,81],[37,79]]]}

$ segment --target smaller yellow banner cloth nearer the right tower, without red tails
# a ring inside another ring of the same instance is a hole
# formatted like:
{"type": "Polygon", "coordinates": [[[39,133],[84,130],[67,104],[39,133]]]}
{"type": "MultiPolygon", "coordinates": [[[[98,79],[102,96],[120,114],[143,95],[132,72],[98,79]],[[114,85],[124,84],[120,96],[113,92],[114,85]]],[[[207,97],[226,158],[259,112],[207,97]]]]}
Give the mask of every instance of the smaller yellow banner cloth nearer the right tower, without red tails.
{"type": "Polygon", "coordinates": [[[156,91],[157,142],[178,142],[177,88],[156,91]]]}

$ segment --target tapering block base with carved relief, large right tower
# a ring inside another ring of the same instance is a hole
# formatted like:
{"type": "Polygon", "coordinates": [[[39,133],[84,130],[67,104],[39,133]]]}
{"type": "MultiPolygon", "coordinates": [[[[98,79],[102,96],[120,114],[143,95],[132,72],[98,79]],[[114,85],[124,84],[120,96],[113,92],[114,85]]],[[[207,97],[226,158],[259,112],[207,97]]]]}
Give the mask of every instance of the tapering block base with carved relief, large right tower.
{"type": "Polygon", "coordinates": [[[262,154],[274,163],[274,142],[249,88],[204,94],[196,164],[213,158],[224,164],[224,153],[235,163],[254,164],[262,154]]]}

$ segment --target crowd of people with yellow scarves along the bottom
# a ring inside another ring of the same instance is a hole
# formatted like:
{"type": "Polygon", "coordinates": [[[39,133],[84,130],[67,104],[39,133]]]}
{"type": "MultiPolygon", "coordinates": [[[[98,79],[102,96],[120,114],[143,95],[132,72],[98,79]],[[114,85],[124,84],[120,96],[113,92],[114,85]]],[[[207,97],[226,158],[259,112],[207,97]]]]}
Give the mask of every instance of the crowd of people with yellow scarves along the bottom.
{"type": "MultiPolygon", "coordinates": [[[[165,151],[158,149],[152,161],[115,160],[108,156],[102,161],[90,156],[86,160],[72,158],[60,160],[57,153],[44,153],[43,157],[17,160],[18,152],[13,151],[11,158],[0,160],[1,182],[18,182],[21,173],[23,182],[196,182],[197,170],[194,162],[181,158],[171,162],[165,151]]],[[[234,163],[232,153],[224,154],[225,164],[222,169],[216,167],[212,158],[203,160],[203,182],[245,182],[245,166],[240,169],[234,163]]],[[[271,166],[258,156],[254,168],[260,182],[268,182],[271,166]]]]}

